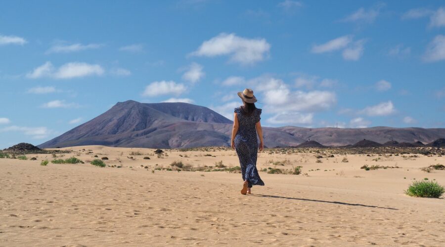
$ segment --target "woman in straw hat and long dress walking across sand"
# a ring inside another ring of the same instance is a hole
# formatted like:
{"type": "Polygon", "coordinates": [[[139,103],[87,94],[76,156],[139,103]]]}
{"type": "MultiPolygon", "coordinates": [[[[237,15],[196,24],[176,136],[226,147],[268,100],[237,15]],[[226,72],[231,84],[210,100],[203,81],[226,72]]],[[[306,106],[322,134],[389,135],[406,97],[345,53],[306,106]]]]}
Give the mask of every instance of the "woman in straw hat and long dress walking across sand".
{"type": "Polygon", "coordinates": [[[236,150],[241,174],[244,180],[241,194],[251,194],[253,185],[264,185],[257,170],[258,140],[260,137],[260,152],[263,151],[263,129],[261,128],[261,109],[255,107],[255,98],[252,89],[246,88],[238,92],[243,105],[235,108],[232,130],[231,146],[236,150]]]}

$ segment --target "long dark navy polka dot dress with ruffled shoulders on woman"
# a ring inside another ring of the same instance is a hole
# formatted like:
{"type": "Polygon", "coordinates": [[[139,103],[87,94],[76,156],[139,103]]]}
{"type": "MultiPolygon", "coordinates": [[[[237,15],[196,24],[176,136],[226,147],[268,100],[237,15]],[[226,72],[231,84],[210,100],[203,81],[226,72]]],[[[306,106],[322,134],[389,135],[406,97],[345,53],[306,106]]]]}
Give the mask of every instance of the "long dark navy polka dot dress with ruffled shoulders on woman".
{"type": "Polygon", "coordinates": [[[248,116],[242,107],[235,108],[239,128],[235,136],[235,150],[241,166],[243,181],[248,181],[249,188],[253,185],[264,185],[257,170],[258,139],[255,124],[260,121],[261,109],[248,116]]]}

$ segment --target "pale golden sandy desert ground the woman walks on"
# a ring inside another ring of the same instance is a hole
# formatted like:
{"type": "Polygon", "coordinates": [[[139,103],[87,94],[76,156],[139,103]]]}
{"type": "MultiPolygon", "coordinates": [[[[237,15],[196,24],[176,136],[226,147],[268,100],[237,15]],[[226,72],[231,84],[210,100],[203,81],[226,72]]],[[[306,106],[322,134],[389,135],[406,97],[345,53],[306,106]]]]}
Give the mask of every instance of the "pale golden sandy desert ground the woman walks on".
{"type": "Polygon", "coordinates": [[[445,246],[445,200],[403,193],[414,178],[445,185],[445,171],[419,169],[445,157],[262,153],[259,169],[287,159],[276,167],[303,173],[260,172],[266,186],[243,196],[239,173],[155,170],[239,165],[234,151],[66,149],[85,164],[0,159],[0,246],[445,246]],[[122,167],[90,165],[94,155],[122,167]]]}

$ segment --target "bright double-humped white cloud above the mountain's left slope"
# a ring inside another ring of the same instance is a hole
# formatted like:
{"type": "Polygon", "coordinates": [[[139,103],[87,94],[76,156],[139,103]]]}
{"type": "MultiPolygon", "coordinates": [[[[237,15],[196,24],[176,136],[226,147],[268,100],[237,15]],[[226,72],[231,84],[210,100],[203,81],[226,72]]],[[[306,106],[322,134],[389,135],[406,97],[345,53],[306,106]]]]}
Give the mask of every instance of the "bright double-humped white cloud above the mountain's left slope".
{"type": "Polygon", "coordinates": [[[38,79],[43,77],[54,79],[72,79],[86,76],[100,76],[104,73],[103,68],[97,64],[72,62],[66,63],[55,69],[51,62],[35,68],[32,72],[29,72],[26,76],[31,79],[38,79]]]}

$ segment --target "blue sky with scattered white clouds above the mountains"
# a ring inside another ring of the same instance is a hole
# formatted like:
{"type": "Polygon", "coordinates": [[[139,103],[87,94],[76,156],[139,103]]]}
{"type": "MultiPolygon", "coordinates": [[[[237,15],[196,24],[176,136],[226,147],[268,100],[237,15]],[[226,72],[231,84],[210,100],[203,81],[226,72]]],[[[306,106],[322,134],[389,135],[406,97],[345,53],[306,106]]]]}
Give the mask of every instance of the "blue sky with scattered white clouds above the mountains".
{"type": "Polygon", "coordinates": [[[265,126],[445,126],[443,1],[1,1],[0,148],[129,99],[265,126]]]}

